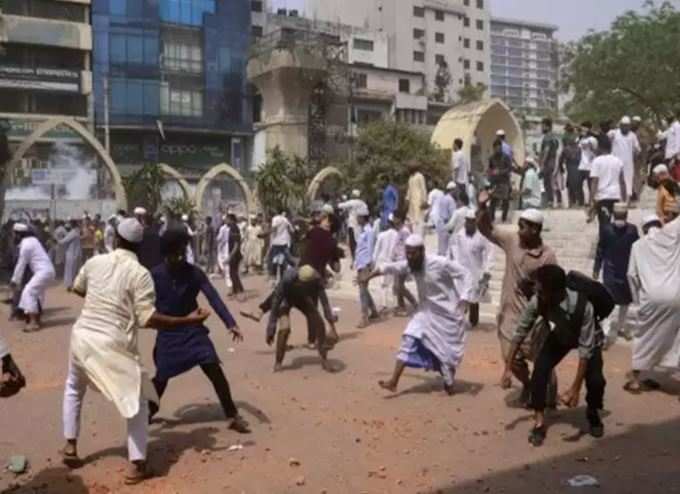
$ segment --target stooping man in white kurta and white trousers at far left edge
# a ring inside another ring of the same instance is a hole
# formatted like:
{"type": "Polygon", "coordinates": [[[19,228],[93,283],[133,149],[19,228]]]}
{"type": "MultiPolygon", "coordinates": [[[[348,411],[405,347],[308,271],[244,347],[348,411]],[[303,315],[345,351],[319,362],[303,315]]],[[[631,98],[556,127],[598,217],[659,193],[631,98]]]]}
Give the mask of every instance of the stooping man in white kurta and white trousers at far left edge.
{"type": "Polygon", "coordinates": [[[24,311],[27,318],[24,331],[37,331],[40,329],[40,314],[45,304],[45,290],[54,280],[54,265],[30,227],[16,223],[14,235],[20,239],[19,259],[14,267],[11,283],[13,286],[21,286],[26,268],[30,268],[33,275],[21,291],[19,309],[24,311]]]}

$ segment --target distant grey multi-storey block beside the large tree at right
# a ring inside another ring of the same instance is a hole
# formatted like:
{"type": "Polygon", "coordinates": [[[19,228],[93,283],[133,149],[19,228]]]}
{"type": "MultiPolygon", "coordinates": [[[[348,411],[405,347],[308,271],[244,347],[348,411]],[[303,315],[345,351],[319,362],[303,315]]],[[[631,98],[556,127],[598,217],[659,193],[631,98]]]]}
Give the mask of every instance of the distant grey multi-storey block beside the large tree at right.
{"type": "Polygon", "coordinates": [[[491,20],[491,96],[526,115],[558,111],[557,26],[491,20]]]}

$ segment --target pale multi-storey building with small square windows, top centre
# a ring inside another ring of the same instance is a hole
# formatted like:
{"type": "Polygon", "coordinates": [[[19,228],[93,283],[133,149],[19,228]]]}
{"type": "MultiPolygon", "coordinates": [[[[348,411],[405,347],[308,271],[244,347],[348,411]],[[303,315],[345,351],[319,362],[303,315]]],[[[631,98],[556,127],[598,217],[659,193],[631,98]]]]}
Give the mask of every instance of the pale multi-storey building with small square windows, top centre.
{"type": "Polygon", "coordinates": [[[431,99],[453,102],[466,84],[489,85],[488,0],[307,0],[306,15],[384,33],[389,68],[425,74],[431,99]]]}

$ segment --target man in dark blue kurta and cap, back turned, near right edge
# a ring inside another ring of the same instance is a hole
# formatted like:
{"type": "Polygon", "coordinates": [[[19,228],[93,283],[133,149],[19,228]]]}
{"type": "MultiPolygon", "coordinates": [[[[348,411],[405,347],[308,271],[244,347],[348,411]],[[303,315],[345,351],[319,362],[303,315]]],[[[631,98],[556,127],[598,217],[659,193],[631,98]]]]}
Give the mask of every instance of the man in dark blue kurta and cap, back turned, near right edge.
{"type": "Polygon", "coordinates": [[[593,278],[600,277],[602,271],[602,282],[611,292],[614,302],[619,306],[618,318],[614,323],[614,313],[604,322],[603,329],[606,340],[606,347],[613,345],[619,332],[623,333],[626,339],[630,335],[626,330],[626,316],[628,306],[633,298],[628,284],[628,263],[633,244],[638,241],[637,228],[627,222],[628,208],[623,203],[614,205],[614,221],[604,225],[597,244],[597,256],[593,267],[593,278]]]}

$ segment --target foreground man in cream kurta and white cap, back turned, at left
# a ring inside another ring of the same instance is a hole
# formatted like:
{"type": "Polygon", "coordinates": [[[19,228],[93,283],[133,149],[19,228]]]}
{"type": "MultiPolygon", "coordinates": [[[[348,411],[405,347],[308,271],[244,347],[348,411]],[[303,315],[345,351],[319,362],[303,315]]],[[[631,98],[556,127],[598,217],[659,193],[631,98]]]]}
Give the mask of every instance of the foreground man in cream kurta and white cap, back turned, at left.
{"type": "Polygon", "coordinates": [[[85,298],[71,333],[68,376],[64,389],[64,463],[79,466],[77,438],[80,412],[90,385],[114,403],[127,419],[128,455],[132,462],[126,483],[148,476],[148,400],[158,401],[145,372],[137,337],[140,328],[172,328],[202,321],[198,313],[173,318],[156,313],[156,293],[149,271],[137,260],[144,228],[135,218],[117,227],[118,248],[91,258],[78,273],[73,291],[85,298]]]}

